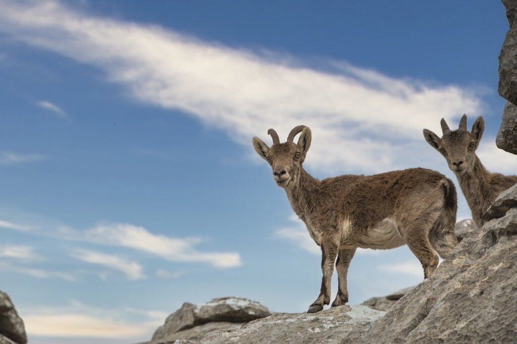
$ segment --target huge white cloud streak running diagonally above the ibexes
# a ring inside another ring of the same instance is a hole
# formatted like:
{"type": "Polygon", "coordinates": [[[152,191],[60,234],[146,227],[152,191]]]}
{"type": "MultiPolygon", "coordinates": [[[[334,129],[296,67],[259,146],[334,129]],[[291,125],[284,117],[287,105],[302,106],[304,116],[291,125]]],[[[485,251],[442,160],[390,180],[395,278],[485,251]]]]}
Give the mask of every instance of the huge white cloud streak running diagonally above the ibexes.
{"type": "Polygon", "coordinates": [[[307,164],[322,171],[435,164],[422,128],[482,107],[475,92],[457,85],[389,77],[342,61],[326,62],[334,71],[323,72],[292,56],[228,48],[57,1],[0,1],[0,31],[96,66],[136,99],[223,129],[250,153],[252,136],[265,139],[272,127],[285,138],[306,124],[313,130],[307,164]]]}

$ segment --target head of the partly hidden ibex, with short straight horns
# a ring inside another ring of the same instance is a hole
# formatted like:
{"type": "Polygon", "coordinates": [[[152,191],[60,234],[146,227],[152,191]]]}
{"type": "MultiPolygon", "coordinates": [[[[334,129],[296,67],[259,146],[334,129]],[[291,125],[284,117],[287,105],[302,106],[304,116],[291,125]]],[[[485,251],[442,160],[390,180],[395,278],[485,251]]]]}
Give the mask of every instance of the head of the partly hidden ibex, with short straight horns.
{"type": "Polygon", "coordinates": [[[483,136],[483,117],[480,116],[476,119],[471,132],[467,130],[467,115],[461,117],[458,130],[451,131],[443,118],[440,123],[443,131],[442,138],[432,131],[424,129],[425,140],[445,157],[449,168],[455,174],[462,175],[467,171],[472,171],[476,161],[474,152],[483,136]]]}

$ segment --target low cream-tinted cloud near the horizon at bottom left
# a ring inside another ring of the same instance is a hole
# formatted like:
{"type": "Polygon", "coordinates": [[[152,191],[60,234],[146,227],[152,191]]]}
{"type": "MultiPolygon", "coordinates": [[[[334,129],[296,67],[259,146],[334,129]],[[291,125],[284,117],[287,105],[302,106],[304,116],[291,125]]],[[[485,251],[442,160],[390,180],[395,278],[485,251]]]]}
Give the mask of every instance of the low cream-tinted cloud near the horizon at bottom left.
{"type": "Polygon", "coordinates": [[[29,336],[148,339],[167,316],[159,310],[103,309],[74,301],[62,307],[22,309],[29,336]],[[136,319],[128,320],[128,318],[136,319]]]}

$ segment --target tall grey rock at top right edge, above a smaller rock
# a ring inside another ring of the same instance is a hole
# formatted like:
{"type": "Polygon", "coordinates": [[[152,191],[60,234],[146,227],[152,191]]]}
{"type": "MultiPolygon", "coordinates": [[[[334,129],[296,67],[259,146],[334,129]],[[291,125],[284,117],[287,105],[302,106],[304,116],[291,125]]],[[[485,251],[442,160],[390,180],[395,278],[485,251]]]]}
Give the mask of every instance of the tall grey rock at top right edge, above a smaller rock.
{"type": "Polygon", "coordinates": [[[503,0],[510,29],[499,54],[499,95],[517,104],[517,0],[503,0]]]}

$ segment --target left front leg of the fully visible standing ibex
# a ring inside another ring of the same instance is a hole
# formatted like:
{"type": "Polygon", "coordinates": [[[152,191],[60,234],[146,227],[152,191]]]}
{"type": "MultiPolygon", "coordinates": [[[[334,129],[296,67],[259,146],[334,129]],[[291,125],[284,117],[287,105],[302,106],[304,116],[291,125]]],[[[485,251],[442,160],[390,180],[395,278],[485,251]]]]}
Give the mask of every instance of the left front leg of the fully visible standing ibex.
{"type": "Polygon", "coordinates": [[[338,244],[334,242],[325,242],[321,244],[322,247],[322,287],[320,296],[309,307],[308,313],[315,313],[323,310],[323,305],[330,303],[330,284],[332,282],[332,273],[334,272],[334,261],[338,256],[338,244]]]}

